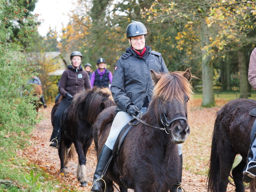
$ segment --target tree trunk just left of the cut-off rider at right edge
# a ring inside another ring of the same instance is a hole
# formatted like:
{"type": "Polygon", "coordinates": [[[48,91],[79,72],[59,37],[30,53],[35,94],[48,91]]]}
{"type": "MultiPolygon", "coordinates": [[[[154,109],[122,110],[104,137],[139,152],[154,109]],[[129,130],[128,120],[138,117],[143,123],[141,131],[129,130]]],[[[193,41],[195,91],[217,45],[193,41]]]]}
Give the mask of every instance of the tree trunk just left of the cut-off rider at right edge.
{"type": "Polygon", "coordinates": [[[248,98],[248,70],[246,66],[245,55],[242,50],[238,51],[238,64],[239,64],[239,74],[240,74],[240,98],[248,98]]]}

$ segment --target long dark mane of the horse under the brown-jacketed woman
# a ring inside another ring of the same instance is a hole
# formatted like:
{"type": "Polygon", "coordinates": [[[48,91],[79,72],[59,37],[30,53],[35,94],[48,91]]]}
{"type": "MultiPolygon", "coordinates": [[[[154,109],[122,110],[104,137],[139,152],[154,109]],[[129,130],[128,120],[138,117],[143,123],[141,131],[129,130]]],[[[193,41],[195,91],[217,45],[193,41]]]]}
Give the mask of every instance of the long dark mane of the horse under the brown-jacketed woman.
{"type": "Polygon", "coordinates": [[[94,87],[91,90],[86,90],[76,94],[71,107],[71,114],[73,119],[85,118],[87,121],[93,123],[97,114],[100,113],[101,107],[99,106],[104,102],[106,107],[113,106],[114,102],[109,100],[109,94],[101,91],[100,88],[94,87]]]}

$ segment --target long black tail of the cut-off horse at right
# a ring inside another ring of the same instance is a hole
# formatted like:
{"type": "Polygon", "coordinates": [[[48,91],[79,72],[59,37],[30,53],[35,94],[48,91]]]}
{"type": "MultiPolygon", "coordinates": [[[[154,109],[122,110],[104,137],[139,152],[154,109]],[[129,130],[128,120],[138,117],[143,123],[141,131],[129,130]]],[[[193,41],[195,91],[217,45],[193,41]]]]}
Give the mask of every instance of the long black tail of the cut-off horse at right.
{"type": "Polygon", "coordinates": [[[211,157],[210,157],[210,166],[208,172],[208,192],[218,192],[218,182],[220,179],[220,159],[219,154],[217,152],[216,145],[216,135],[215,135],[215,127],[213,130],[213,138],[211,144],[211,157]]]}

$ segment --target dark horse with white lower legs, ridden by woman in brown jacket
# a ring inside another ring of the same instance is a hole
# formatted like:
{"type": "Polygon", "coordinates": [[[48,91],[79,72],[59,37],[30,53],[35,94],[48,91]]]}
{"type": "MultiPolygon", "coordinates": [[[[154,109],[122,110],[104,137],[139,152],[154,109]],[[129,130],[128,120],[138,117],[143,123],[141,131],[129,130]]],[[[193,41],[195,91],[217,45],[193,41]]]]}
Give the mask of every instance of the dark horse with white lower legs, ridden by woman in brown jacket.
{"type": "MultiPolygon", "coordinates": [[[[59,147],[59,158],[61,160],[61,173],[67,174],[68,158],[71,157],[72,147],[76,148],[79,158],[77,177],[81,186],[87,184],[86,175],[86,153],[92,144],[92,125],[101,111],[115,102],[110,100],[109,94],[102,92],[100,88],[86,90],[74,96],[74,100],[66,111],[66,118],[62,118],[61,142],[59,147]]],[[[52,109],[52,125],[54,125],[54,112],[59,102],[52,109]]]]}

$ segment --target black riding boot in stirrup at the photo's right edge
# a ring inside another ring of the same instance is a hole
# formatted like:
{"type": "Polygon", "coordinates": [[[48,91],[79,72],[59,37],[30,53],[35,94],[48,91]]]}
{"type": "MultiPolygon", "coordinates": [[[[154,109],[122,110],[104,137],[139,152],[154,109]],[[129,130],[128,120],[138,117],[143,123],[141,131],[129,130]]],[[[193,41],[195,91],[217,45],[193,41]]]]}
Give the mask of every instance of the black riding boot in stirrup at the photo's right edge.
{"type": "Polygon", "coordinates": [[[251,182],[256,177],[256,133],[254,133],[251,145],[247,156],[247,164],[243,171],[243,181],[246,183],[251,182]]]}

